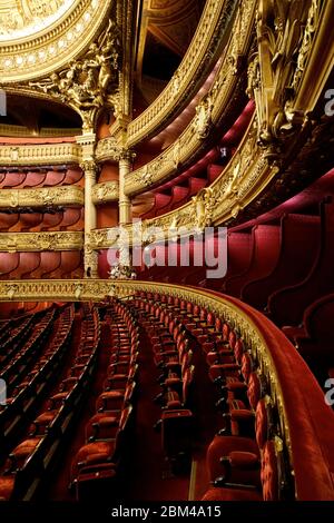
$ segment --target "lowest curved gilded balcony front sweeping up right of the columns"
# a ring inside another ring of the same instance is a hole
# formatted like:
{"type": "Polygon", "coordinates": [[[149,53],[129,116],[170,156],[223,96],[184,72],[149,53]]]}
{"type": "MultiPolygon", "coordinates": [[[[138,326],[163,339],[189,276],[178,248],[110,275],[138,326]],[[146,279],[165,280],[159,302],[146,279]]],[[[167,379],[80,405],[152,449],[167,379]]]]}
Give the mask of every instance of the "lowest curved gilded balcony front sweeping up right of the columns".
{"type": "MultiPolygon", "coordinates": [[[[166,239],[168,231],[176,228],[203,230],[204,227],[224,224],[236,218],[239,211],[259,195],[266,184],[278,172],[278,167],[271,164],[267,151],[257,145],[256,117],[253,117],[248,130],[233,159],[212,186],[202,189],[193,199],[176,210],[157,218],[144,220],[141,235],[149,236],[148,229],[160,231],[155,240],[166,239]]],[[[126,226],[131,239],[131,224],[126,226]]],[[[115,229],[99,229],[91,233],[92,248],[115,246],[115,229]]]]}

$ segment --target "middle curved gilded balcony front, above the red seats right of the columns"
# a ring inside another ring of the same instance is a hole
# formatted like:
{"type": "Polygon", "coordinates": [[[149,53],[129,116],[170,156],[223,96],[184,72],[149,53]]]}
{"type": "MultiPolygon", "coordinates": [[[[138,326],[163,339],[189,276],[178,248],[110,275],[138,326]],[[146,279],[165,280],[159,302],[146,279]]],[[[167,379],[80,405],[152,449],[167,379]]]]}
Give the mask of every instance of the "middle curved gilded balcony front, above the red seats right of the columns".
{"type": "Polygon", "coordinates": [[[126,176],[127,196],[151,189],[176,176],[180,168],[194,162],[210,147],[210,137],[216,127],[223,126],[228,130],[232,124],[228,116],[234,114],[244,99],[246,78],[242,58],[249,52],[255,6],[256,0],[247,0],[239,7],[234,23],[237,30],[233,31],[226,49],[228,59],[222,60],[209,92],[196,107],[194,119],[170,147],[149,164],[126,176]]]}

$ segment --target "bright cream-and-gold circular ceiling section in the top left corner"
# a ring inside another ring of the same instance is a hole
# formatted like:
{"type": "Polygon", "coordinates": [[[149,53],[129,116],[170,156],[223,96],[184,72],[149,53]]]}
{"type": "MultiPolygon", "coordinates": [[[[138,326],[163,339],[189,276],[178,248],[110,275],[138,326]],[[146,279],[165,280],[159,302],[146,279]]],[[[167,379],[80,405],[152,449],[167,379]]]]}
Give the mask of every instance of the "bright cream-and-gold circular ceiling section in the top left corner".
{"type": "Polygon", "coordinates": [[[2,83],[37,79],[76,59],[106,26],[115,0],[2,0],[2,83]]]}

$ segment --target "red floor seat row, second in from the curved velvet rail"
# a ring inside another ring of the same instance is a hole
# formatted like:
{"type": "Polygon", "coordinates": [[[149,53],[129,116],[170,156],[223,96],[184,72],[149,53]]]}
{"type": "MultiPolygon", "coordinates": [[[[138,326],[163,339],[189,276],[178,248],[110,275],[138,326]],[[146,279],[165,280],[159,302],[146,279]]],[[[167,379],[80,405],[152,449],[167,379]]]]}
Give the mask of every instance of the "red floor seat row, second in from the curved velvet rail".
{"type": "Polygon", "coordinates": [[[177,460],[180,453],[188,453],[190,446],[188,438],[193,428],[194,347],[180,319],[163,308],[158,302],[150,304],[136,299],[131,306],[148,335],[154,363],[160,373],[160,393],[153,398],[161,407],[155,428],[161,428],[165,455],[177,460]]]}

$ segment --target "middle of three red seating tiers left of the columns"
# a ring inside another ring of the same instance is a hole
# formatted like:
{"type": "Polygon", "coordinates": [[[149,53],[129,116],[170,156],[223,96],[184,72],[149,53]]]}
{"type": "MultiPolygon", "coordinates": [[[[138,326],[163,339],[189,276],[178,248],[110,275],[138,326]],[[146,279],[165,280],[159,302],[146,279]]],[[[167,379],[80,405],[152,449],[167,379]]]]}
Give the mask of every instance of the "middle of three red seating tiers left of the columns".
{"type": "Polygon", "coordinates": [[[42,233],[82,230],[84,209],[66,208],[28,213],[24,210],[0,211],[0,233],[42,233]]]}

